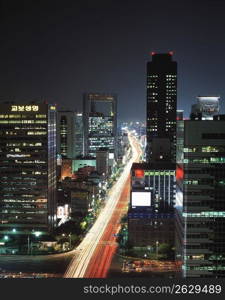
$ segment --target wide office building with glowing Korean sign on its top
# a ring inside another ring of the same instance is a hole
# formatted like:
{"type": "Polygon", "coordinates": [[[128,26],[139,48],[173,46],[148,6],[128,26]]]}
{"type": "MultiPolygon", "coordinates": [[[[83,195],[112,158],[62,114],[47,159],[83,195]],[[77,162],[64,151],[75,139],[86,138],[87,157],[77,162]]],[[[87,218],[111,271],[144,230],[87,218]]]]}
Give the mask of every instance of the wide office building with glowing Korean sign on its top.
{"type": "Polygon", "coordinates": [[[47,232],[56,222],[56,107],[0,104],[0,231],[47,232]]]}

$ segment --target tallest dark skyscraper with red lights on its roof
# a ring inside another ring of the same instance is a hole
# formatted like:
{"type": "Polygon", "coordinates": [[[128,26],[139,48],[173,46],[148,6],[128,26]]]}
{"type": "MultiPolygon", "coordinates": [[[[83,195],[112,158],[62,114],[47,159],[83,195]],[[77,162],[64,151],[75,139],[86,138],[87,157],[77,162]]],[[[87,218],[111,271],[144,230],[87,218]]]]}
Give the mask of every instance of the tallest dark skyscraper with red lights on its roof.
{"type": "Polygon", "coordinates": [[[172,52],[147,63],[147,162],[176,161],[177,63],[172,52]]]}

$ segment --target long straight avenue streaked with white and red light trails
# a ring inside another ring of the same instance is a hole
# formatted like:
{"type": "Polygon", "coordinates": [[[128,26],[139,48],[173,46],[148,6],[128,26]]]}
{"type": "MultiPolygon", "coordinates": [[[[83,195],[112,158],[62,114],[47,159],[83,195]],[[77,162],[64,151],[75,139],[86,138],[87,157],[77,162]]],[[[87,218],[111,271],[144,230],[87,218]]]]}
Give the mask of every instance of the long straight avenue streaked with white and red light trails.
{"type": "Polygon", "coordinates": [[[132,157],[120,178],[112,187],[109,198],[98,219],[76,249],[64,278],[104,278],[116,251],[115,236],[120,228],[123,209],[129,200],[129,176],[133,162],[138,162],[141,149],[136,139],[128,134],[132,157]],[[119,213],[118,213],[119,212],[119,213]]]}

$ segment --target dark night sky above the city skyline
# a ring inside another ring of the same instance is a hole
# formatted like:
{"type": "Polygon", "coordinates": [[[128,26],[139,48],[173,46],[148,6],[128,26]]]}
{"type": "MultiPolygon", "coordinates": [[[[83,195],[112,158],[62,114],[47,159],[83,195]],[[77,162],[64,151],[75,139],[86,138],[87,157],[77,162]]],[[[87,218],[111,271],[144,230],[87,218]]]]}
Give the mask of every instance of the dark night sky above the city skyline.
{"type": "Polygon", "coordinates": [[[221,96],[224,112],[222,0],[0,0],[0,5],[1,101],[44,97],[81,109],[84,92],[113,92],[120,120],[145,120],[149,53],[173,50],[178,108],[189,115],[195,97],[209,94],[221,96]]]}

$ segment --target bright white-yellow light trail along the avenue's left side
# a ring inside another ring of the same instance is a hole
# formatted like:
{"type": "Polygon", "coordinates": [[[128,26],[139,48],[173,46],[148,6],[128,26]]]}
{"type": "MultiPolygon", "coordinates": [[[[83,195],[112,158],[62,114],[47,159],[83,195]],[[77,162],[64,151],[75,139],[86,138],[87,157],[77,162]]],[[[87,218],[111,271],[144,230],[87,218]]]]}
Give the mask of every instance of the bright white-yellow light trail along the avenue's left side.
{"type": "Polygon", "coordinates": [[[141,150],[135,137],[128,132],[129,142],[132,148],[132,156],[127,165],[125,166],[120,178],[111,188],[108,200],[105,207],[102,209],[94,225],[88,231],[80,245],[74,250],[75,255],[71,260],[64,278],[83,278],[88,268],[90,260],[96,250],[96,247],[103,236],[109,220],[116,208],[120,195],[123,191],[125,183],[130,175],[130,169],[133,162],[139,161],[141,150]]]}

